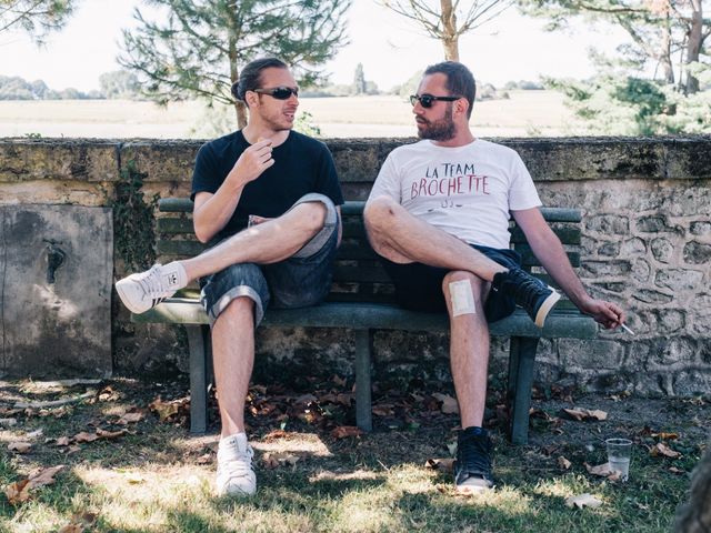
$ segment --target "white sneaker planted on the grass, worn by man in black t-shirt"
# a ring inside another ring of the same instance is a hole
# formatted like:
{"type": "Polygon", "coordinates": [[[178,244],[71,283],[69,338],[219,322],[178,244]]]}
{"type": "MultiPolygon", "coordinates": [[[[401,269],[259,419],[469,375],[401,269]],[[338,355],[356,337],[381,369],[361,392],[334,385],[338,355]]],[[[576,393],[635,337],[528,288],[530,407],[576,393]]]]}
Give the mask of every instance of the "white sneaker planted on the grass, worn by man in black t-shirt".
{"type": "Polygon", "coordinates": [[[257,492],[254,452],[244,433],[226,436],[218,446],[218,495],[249,496],[257,492]]]}

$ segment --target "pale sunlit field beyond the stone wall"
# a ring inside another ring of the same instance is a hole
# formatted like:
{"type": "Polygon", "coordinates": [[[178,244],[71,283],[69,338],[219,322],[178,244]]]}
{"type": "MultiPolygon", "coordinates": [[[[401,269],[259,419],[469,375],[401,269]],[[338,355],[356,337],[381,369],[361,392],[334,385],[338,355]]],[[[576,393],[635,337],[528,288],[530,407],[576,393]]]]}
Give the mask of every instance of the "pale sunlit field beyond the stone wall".
{"type": "MultiPolygon", "coordinates": [[[[572,114],[560,93],[511,91],[509,99],[477,102],[474,132],[481,137],[555,137],[570,134],[572,114]]],[[[412,137],[411,107],[392,95],[303,98],[324,138],[412,137]]],[[[0,137],[210,138],[233,125],[231,114],[207,112],[201,102],[123,100],[0,101],[0,137]],[[217,124],[217,125],[216,125],[217,124]]]]}

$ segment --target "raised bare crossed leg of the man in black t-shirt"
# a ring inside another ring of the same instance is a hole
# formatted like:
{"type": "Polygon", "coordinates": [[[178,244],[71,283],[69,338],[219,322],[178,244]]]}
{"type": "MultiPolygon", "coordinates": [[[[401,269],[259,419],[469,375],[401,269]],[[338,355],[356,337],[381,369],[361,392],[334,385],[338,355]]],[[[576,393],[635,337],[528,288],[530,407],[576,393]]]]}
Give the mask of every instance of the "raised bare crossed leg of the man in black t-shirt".
{"type": "Polygon", "coordinates": [[[237,263],[269,264],[298,252],[321,229],[326,205],[300,203],[291,211],[253,225],[200,255],[181,261],[189,280],[196,280],[237,263]]]}

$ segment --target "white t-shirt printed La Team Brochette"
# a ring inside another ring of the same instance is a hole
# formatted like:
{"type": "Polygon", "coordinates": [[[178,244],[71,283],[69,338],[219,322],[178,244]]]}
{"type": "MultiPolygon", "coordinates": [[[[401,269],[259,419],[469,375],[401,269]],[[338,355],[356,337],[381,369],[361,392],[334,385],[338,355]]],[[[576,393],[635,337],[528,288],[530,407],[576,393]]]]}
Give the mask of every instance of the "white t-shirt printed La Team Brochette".
{"type": "Polygon", "coordinates": [[[481,139],[455,148],[430,140],[395,148],[370,199],[383,194],[470,244],[497,249],[509,248],[510,211],[541,205],[519,154],[481,139]]]}

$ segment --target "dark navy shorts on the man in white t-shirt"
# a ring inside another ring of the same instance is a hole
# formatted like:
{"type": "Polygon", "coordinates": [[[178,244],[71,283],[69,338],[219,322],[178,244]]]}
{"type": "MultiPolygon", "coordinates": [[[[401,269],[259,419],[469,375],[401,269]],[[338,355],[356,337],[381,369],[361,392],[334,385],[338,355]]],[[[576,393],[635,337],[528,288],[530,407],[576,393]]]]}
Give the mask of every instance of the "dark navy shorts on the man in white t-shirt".
{"type": "MultiPolygon", "coordinates": [[[[470,244],[474,250],[508,269],[521,266],[521,255],[514,250],[470,244]]],[[[442,293],[442,281],[451,269],[441,269],[422,263],[393,263],[380,258],[385,272],[395,285],[398,303],[405,309],[430,313],[447,312],[447,302],[442,293]]],[[[515,301],[501,292],[489,291],[484,302],[484,315],[488,322],[509,316],[515,310],[515,301]]]]}

